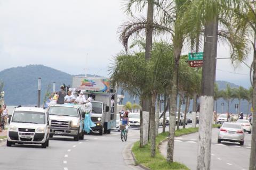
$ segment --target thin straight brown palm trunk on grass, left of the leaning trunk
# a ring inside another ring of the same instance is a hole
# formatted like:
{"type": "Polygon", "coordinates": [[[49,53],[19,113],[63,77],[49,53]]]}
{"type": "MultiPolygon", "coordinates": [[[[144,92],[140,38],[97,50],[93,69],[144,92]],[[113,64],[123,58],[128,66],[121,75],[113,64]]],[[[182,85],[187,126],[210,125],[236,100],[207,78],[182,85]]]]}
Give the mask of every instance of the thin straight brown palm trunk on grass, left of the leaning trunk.
{"type": "Polygon", "coordinates": [[[151,96],[151,124],[150,124],[150,132],[151,132],[151,157],[156,156],[156,92],[153,91],[151,96]]]}

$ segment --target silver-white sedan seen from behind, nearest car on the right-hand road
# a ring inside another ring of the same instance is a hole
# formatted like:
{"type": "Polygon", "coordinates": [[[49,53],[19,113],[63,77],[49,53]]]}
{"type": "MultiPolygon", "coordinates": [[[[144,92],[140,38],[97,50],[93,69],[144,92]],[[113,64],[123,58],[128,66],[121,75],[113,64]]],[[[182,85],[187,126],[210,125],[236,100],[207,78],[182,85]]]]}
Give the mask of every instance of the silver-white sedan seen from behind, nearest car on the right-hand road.
{"type": "Polygon", "coordinates": [[[221,141],[239,142],[244,145],[244,129],[241,124],[224,122],[218,132],[218,143],[221,141]]]}

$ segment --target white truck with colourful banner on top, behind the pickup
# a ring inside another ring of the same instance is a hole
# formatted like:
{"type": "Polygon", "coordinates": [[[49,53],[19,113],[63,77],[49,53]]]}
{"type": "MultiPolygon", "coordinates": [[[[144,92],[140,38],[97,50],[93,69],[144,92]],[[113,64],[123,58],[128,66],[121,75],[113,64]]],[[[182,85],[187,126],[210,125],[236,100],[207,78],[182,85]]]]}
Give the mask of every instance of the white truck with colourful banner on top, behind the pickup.
{"type": "Polygon", "coordinates": [[[110,133],[116,127],[117,92],[110,87],[108,78],[73,77],[72,88],[92,97],[91,120],[97,125],[93,131],[110,133]]]}

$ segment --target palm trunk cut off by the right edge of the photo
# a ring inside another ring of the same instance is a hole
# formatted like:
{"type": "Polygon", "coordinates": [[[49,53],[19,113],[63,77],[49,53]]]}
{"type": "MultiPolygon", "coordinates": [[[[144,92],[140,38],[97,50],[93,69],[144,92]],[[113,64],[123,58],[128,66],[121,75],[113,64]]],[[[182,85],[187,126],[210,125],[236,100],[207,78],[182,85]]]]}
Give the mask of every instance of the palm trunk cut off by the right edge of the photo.
{"type": "Polygon", "coordinates": [[[251,140],[251,156],[250,170],[256,169],[256,31],[254,32],[253,44],[253,98],[252,98],[252,140],[251,140]]]}

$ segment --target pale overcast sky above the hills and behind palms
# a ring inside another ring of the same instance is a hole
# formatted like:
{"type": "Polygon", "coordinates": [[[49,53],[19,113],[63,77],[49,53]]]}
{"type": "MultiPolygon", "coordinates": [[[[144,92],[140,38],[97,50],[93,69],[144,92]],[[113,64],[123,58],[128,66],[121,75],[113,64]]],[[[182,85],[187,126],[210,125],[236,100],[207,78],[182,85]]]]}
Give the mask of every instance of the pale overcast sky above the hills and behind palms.
{"type": "MultiPolygon", "coordinates": [[[[84,74],[90,68],[87,73],[108,77],[113,57],[124,49],[117,35],[119,25],[129,19],[123,4],[123,0],[0,0],[0,71],[43,64],[69,74],[84,74]]],[[[229,56],[228,45],[219,44],[218,57],[229,56]]],[[[250,65],[252,54],[245,62],[250,65]]],[[[249,71],[244,64],[234,70],[230,60],[217,60],[217,80],[247,88],[249,71]]]]}

